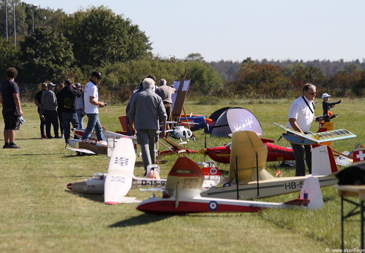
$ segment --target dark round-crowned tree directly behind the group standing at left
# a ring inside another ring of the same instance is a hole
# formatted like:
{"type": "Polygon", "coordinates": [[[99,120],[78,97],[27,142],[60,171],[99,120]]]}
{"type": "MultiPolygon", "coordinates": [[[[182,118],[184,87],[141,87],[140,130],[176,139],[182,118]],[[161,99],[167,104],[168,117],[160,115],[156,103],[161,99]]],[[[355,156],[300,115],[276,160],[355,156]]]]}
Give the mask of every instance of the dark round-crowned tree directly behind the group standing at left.
{"type": "Polygon", "coordinates": [[[24,63],[23,82],[63,82],[75,62],[70,42],[49,27],[34,29],[34,34],[21,43],[20,51],[20,60],[24,63]]]}

